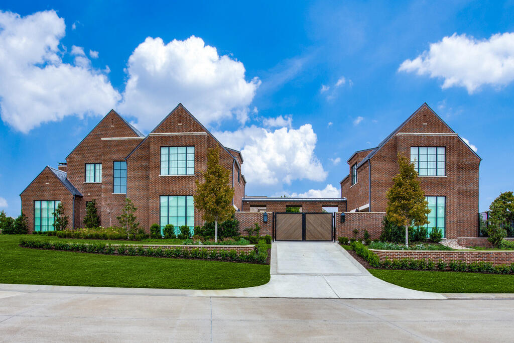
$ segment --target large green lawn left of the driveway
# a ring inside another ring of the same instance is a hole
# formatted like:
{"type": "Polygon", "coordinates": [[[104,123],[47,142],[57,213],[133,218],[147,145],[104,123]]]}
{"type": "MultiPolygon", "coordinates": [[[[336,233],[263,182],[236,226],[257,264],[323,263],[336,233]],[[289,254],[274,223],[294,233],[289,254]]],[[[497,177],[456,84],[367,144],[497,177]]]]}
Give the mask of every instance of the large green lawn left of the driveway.
{"type": "Polygon", "coordinates": [[[258,286],[270,278],[269,265],[262,264],[96,255],[18,245],[21,238],[34,236],[0,235],[0,283],[222,290],[258,286]]]}

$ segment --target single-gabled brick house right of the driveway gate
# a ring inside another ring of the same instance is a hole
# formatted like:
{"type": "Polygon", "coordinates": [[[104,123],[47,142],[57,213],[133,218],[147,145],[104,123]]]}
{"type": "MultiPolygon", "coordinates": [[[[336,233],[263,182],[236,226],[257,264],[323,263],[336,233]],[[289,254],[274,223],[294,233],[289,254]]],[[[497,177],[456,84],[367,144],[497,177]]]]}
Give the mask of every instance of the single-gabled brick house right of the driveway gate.
{"type": "Polygon", "coordinates": [[[398,173],[397,154],[410,156],[425,191],[430,224],[444,237],[476,236],[481,158],[424,103],[375,148],[348,158],[341,196],[350,211],[386,211],[386,192],[398,173]]]}

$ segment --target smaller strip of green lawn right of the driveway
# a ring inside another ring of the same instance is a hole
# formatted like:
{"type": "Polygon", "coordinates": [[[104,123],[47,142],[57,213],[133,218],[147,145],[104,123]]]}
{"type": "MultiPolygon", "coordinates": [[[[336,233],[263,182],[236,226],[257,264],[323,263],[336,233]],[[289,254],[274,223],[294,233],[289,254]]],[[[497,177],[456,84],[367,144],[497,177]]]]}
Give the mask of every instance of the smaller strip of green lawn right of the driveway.
{"type": "Polygon", "coordinates": [[[368,269],[375,277],[417,291],[514,293],[514,275],[368,269]]]}

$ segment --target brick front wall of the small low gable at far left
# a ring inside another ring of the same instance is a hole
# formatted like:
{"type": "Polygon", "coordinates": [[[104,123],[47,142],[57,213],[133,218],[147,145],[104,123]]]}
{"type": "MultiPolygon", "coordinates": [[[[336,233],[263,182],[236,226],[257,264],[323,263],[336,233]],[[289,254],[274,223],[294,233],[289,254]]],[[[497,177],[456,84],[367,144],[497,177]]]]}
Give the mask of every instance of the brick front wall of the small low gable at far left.
{"type": "MultiPolygon", "coordinates": [[[[34,201],[59,200],[68,216],[68,227],[73,223],[73,195],[62,182],[46,167],[33,182],[20,194],[22,212],[27,216],[28,232],[34,231],[34,201]]],[[[77,196],[80,199],[79,196],[77,196]]],[[[76,205],[80,202],[76,198],[76,205]]]]}

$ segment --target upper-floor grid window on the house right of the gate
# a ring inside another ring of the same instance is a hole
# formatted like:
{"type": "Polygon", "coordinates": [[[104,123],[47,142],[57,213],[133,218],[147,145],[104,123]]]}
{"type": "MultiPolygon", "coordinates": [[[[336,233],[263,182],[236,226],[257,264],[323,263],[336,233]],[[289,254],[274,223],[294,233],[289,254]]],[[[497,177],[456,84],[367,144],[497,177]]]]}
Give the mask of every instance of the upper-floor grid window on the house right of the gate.
{"type": "Polygon", "coordinates": [[[411,163],[418,175],[445,175],[445,161],[445,147],[411,147],[411,163]]]}

